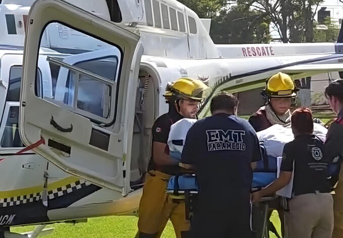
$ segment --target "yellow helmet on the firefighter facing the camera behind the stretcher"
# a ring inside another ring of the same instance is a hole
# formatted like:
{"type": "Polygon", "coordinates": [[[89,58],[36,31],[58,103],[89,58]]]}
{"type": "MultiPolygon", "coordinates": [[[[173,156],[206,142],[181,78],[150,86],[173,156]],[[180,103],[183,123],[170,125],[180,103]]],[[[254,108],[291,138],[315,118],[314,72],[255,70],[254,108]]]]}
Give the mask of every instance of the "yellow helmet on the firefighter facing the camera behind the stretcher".
{"type": "Polygon", "coordinates": [[[295,97],[296,87],[291,77],[285,73],[277,73],[266,81],[264,90],[269,97],[295,97]]]}

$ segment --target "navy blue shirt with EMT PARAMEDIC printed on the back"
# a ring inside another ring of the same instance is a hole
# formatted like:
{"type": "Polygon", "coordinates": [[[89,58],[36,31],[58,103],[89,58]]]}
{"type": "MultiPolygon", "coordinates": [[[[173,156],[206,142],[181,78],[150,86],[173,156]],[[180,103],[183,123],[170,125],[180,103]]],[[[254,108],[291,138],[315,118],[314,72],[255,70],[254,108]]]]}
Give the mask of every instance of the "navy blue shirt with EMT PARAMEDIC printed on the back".
{"type": "Polygon", "coordinates": [[[182,151],[182,163],[195,166],[202,196],[223,199],[240,191],[250,194],[250,163],[259,160],[255,130],[247,120],[225,113],[197,121],[188,131],[182,151]]]}

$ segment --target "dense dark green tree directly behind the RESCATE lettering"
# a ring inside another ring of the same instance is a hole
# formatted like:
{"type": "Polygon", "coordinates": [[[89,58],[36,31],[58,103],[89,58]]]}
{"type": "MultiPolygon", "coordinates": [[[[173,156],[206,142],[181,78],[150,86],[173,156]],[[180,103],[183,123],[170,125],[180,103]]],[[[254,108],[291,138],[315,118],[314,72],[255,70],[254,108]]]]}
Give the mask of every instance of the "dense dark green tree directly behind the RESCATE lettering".
{"type": "Polygon", "coordinates": [[[269,43],[269,25],[269,18],[237,4],[212,19],[210,36],[216,44],[269,43]]]}

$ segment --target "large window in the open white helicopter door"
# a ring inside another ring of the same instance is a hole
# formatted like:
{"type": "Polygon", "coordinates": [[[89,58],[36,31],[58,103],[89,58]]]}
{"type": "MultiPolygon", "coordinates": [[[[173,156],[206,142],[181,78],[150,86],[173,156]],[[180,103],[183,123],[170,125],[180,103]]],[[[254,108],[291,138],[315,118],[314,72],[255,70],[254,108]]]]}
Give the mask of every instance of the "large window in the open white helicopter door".
{"type": "MultiPolygon", "coordinates": [[[[47,57],[52,97],[44,99],[97,124],[113,122],[122,51],[61,23],[50,23],[47,29],[50,46],[64,54],[47,57]]],[[[40,49],[50,46],[41,43],[40,49]]]]}

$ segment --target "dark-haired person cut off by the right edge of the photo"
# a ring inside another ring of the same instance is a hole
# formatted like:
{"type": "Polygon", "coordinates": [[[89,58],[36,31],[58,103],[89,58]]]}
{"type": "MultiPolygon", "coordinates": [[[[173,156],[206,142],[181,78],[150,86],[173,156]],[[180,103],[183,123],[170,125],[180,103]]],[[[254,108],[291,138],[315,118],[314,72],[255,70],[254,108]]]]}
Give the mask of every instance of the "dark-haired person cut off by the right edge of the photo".
{"type": "MultiPolygon", "coordinates": [[[[343,155],[343,80],[333,81],[326,89],[325,96],[337,119],[330,125],[324,144],[325,153],[334,160],[343,155]]],[[[332,237],[343,237],[343,170],[331,179],[331,185],[338,183],[333,195],[334,228],[332,237]]]]}

